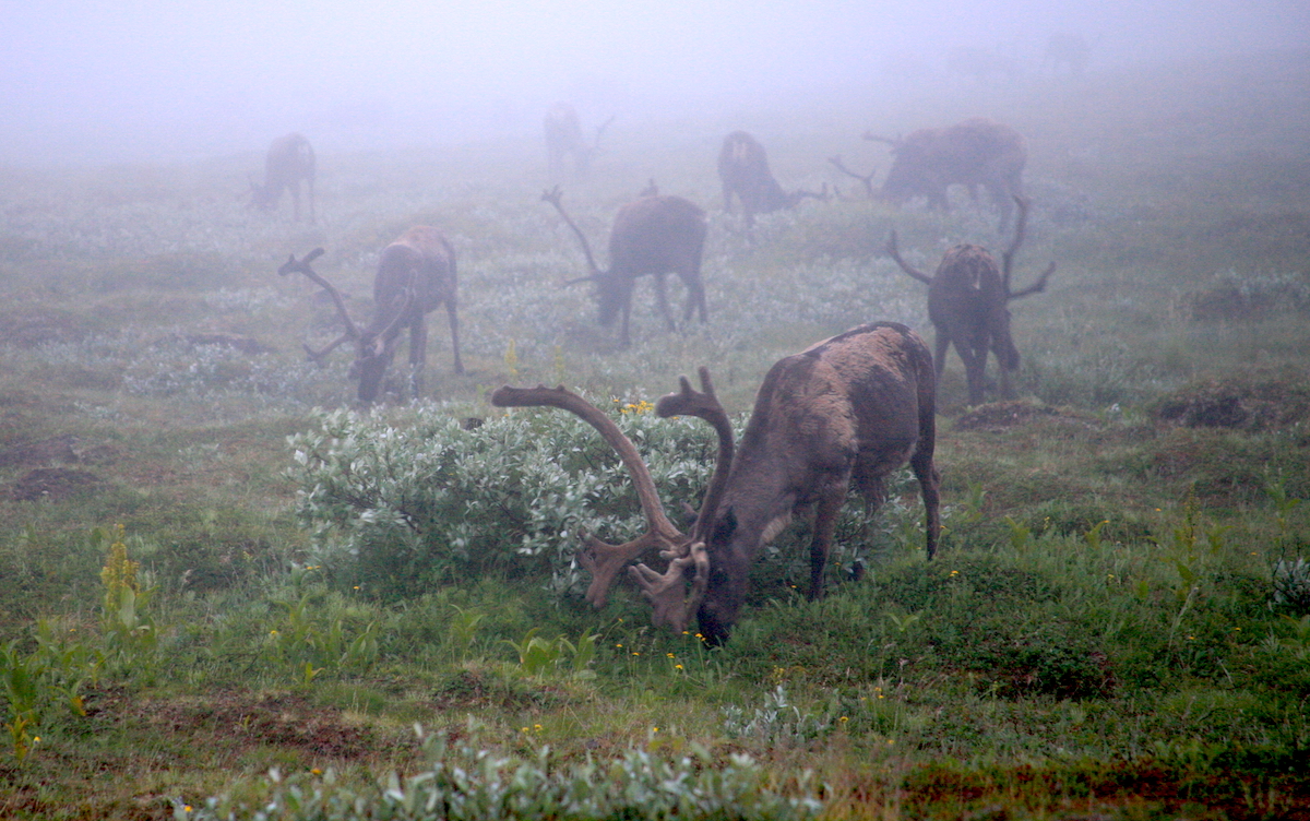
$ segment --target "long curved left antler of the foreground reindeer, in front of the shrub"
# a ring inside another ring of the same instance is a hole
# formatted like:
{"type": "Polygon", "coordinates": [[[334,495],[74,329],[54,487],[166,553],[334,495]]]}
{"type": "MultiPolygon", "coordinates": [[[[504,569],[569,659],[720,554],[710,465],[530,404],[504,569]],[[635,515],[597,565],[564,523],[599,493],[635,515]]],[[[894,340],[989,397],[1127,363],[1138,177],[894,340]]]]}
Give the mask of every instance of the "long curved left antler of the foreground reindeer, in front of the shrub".
{"type": "Polygon", "coordinates": [[[637,486],[637,498],[641,500],[642,512],[646,513],[647,532],[622,545],[610,545],[592,536],[586,536],[586,543],[578,554],[578,562],[592,574],[591,585],[587,588],[587,601],[593,606],[605,606],[609,588],[614,584],[618,572],[638,555],[651,549],[669,556],[685,553],[685,537],[664,515],[655,482],[651,479],[646,462],[637,453],[637,445],[624,436],[618,426],[596,406],[578,394],[565,390],[563,386],[546,388],[544,385],[498,388],[491,394],[491,405],[496,407],[558,407],[566,410],[596,428],[618,453],[624,466],[627,467],[633,484],[637,486]]]}

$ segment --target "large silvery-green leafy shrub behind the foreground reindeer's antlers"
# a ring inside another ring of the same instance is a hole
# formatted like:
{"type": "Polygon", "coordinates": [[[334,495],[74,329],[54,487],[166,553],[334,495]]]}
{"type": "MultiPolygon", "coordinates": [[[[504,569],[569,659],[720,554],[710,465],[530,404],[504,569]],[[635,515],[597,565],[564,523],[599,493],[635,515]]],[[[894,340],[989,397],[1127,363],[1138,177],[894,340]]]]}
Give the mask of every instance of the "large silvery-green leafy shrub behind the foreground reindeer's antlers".
{"type": "MultiPolygon", "coordinates": [[[[698,505],[713,431],[659,419],[648,405],[614,409],[669,515],[698,505]]],[[[557,594],[576,593],[586,587],[579,532],[620,542],[646,526],[618,456],[562,411],[468,426],[421,410],[403,427],[381,414],[320,411],[290,445],[297,512],[324,564],[371,594],[410,596],[482,574],[541,577],[557,594]]]]}

